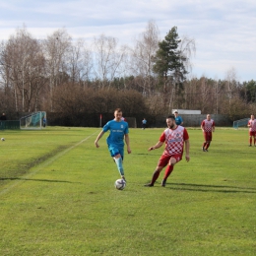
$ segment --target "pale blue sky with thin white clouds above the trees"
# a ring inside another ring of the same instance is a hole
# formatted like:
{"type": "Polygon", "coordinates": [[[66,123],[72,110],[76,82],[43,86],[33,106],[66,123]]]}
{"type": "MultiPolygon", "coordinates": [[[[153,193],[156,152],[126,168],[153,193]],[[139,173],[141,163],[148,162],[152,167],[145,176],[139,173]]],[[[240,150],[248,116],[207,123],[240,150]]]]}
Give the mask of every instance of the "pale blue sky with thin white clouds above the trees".
{"type": "Polygon", "coordinates": [[[1,0],[0,40],[25,25],[35,38],[65,28],[74,38],[92,42],[104,33],[132,45],[149,21],[160,39],[172,27],[196,41],[191,76],[256,81],[255,0],[1,0]]]}

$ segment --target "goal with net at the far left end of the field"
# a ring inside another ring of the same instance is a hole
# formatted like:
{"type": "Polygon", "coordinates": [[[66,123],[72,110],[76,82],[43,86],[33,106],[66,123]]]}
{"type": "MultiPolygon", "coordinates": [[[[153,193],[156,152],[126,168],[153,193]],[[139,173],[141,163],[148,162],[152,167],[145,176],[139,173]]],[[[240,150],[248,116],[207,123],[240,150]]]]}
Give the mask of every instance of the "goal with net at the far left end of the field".
{"type": "Polygon", "coordinates": [[[46,118],[46,112],[39,111],[24,116],[20,119],[20,128],[23,130],[41,129],[43,125],[42,119],[46,118]]]}

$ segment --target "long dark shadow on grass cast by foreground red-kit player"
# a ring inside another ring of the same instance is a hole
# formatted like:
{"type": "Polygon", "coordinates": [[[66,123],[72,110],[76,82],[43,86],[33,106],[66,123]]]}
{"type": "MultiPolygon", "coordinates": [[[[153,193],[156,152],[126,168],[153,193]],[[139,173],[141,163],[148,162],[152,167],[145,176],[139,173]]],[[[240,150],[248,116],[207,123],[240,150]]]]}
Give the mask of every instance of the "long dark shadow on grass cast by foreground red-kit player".
{"type": "Polygon", "coordinates": [[[222,186],[222,185],[203,185],[190,183],[166,183],[167,189],[172,190],[187,190],[200,192],[219,192],[219,193],[256,193],[256,188],[222,186]]]}

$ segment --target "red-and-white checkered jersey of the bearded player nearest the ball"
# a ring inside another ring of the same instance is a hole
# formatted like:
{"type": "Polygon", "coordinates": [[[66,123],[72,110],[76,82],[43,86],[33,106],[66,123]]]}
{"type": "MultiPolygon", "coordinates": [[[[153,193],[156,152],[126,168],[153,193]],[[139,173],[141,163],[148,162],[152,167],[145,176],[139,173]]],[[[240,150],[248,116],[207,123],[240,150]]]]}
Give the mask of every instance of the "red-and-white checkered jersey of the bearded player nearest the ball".
{"type": "Polygon", "coordinates": [[[188,132],[183,126],[176,129],[165,129],[160,135],[160,142],[165,142],[163,155],[172,156],[183,154],[184,141],[188,140],[188,132]]]}

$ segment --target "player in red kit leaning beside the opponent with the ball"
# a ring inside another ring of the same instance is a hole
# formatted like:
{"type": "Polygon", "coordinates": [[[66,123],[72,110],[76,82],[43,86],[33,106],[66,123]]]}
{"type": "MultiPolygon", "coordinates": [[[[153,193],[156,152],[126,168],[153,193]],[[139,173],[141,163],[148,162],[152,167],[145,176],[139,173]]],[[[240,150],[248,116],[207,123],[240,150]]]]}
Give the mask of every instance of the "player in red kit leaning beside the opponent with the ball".
{"type": "Polygon", "coordinates": [[[187,130],[175,123],[175,116],[169,115],[166,118],[167,129],[165,129],[160,135],[160,141],[149,151],[159,149],[163,143],[165,143],[164,151],[160,157],[158,166],[153,173],[152,181],[146,184],[147,187],[153,187],[156,180],[160,176],[160,171],[163,167],[166,167],[161,186],[165,187],[166,180],[173,170],[173,166],[182,159],[183,147],[185,144],[186,160],[189,161],[189,136],[187,130]]]}

